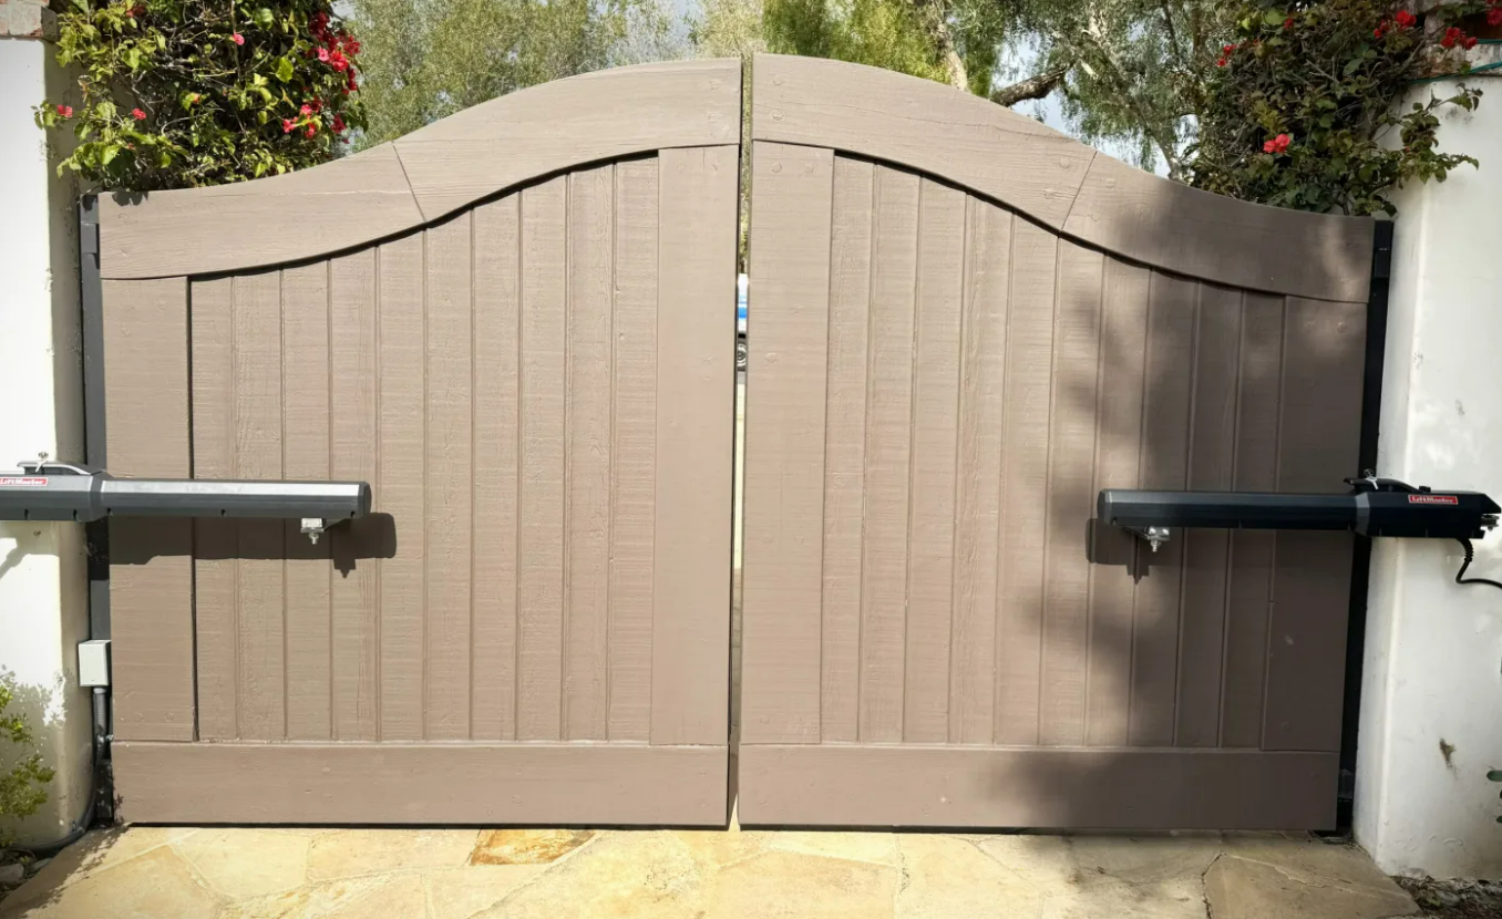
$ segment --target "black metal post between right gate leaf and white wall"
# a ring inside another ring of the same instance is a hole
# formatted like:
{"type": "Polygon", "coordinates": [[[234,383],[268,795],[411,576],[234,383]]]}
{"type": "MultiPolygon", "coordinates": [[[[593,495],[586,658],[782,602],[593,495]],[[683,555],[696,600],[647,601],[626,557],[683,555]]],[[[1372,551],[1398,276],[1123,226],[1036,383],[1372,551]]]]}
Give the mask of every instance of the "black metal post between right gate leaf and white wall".
{"type": "MultiPolygon", "coordinates": [[[[1377,221],[1371,240],[1371,290],[1367,294],[1367,362],[1361,384],[1361,475],[1377,469],[1382,420],[1382,363],[1388,344],[1388,282],[1392,278],[1392,221],[1377,221]]],[[[1367,581],[1371,539],[1356,536],[1350,566],[1350,613],[1346,622],[1346,694],[1340,721],[1340,796],[1337,832],[1350,835],[1356,802],[1356,731],[1361,728],[1361,664],[1367,644],[1367,581]]]]}

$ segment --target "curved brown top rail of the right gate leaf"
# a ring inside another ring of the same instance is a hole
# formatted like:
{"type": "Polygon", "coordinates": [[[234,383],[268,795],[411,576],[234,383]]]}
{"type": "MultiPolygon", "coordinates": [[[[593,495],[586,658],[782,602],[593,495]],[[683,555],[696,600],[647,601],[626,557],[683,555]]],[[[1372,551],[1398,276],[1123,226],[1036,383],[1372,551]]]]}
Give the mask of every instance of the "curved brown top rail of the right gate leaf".
{"type": "Polygon", "coordinates": [[[1370,219],[1191,189],[979,96],[891,71],[759,54],[753,78],[753,140],[903,164],[1163,270],[1326,300],[1367,296],[1370,219]]]}

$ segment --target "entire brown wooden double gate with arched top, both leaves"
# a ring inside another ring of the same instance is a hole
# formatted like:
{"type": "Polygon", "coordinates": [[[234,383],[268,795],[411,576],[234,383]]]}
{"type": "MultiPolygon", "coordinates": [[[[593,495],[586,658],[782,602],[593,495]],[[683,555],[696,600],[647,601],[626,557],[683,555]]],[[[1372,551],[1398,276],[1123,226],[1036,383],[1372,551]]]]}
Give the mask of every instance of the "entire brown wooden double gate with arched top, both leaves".
{"type": "Polygon", "coordinates": [[[1090,517],[1352,475],[1373,224],[748,75],[739,674],[739,62],[102,203],[110,470],[374,487],[111,521],[125,818],[718,826],[734,763],[748,824],[1334,823],[1352,536],[1090,517]]]}

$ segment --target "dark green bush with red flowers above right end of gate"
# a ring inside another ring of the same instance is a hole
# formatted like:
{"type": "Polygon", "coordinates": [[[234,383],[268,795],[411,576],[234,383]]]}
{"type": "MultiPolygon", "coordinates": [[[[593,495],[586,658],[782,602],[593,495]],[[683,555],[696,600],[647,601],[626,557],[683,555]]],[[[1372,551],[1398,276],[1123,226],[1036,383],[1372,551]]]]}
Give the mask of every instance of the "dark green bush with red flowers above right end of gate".
{"type": "Polygon", "coordinates": [[[1406,182],[1443,182],[1476,159],[1437,149],[1437,111],[1473,111],[1481,90],[1430,95],[1400,110],[1418,80],[1464,74],[1475,36],[1458,23],[1502,0],[1445,6],[1419,18],[1391,0],[1272,3],[1238,15],[1221,48],[1191,149],[1199,188],[1301,210],[1395,213],[1406,182]]]}

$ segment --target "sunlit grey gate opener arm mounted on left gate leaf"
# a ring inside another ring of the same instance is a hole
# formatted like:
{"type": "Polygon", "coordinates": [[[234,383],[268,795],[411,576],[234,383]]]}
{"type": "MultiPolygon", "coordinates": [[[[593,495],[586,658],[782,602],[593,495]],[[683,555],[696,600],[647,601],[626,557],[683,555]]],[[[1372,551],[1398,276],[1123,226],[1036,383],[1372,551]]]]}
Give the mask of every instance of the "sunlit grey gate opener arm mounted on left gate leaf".
{"type": "Polygon", "coordinates": [[[371,511],[365,482],[117,479],[71,463],[21,463],[0,475],[0,520],[89,523],[107,517],[260,517],[300,520],[318,542],[330,526],[371,511]]]}

